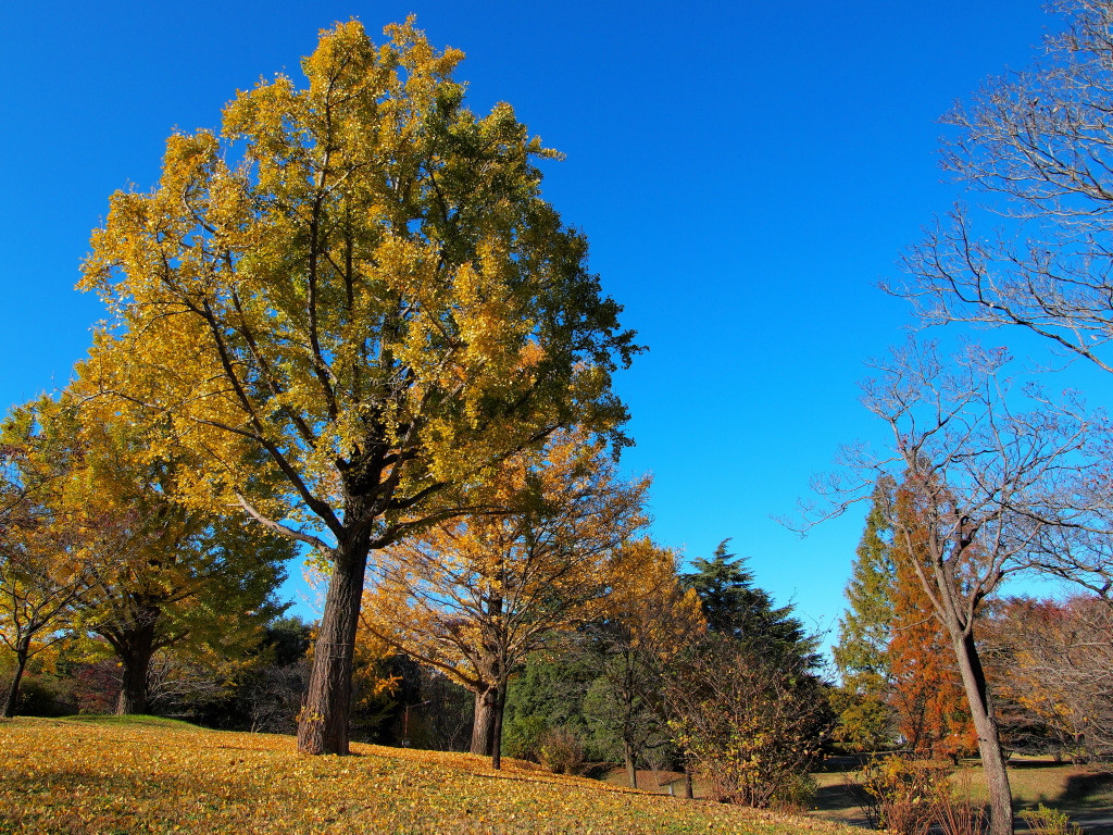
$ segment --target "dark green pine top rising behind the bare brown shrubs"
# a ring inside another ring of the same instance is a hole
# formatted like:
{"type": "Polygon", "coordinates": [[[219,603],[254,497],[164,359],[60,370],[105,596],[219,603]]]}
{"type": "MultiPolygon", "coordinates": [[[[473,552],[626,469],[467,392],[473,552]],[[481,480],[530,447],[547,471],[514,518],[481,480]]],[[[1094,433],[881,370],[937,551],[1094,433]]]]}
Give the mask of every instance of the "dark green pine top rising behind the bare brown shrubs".
{"type": "Polygon", "coordinates": [[[804,669],[818,667],[818,640],[792,617],[792,607],[774,607],[772,598],[754,586],[754,572],[746,558],[727,551],[729,539],[715,549],[711,559],[697,559],[695,571],[681,580],[695,589],[703,605],[708,630],[733,638],[756,650],[781,651],[802,662],[804,669]]]}

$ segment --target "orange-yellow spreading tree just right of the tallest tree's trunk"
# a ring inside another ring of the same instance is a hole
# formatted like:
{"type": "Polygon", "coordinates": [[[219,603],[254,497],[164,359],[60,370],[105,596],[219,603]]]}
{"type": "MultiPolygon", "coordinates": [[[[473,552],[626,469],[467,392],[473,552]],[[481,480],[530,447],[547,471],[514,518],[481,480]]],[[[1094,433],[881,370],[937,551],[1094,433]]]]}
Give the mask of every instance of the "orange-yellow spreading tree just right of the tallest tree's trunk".
{"type": "Polygon", "coordinates": [[[603,444],[561,433],[503,462],[483,514],[445,521],[380,556],[373,631],[475,694],[472,753],[501,758],[510,675],[555,630],[591,619],[641,553],[648,480],[622,481],[603,444]]]}

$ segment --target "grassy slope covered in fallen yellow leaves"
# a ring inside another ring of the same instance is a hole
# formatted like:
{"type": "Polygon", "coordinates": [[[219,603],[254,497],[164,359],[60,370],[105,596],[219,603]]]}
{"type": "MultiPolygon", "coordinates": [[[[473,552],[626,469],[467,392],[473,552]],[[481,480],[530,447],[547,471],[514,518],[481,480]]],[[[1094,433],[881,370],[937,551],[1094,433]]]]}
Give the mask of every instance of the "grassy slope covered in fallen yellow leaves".
{"type": "Polygon", "coordinates": [[[2,833],[745,833],[821,822],[651,796],[467,755],[354,746],[303,757],[289,737],[157,719],[0,723],[2,833]]]}

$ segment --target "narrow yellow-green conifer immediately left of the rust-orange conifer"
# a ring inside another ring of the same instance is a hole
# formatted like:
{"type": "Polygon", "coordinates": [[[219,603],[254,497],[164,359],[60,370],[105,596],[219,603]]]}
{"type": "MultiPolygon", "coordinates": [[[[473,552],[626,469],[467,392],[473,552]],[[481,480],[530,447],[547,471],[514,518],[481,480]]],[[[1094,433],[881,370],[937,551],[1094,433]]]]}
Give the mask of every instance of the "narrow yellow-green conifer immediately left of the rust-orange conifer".
{"type": "Polygon", "coordinates": [[[833,648],[843,679],[835,696],[839,724],[834,736],[861,750],[877,750],[894,736],[889,645],[896,579],[892,520],[895,499],[893,479],[878,479],[846,584],[847,610],[839,619],[838,642],[833,648]]]}

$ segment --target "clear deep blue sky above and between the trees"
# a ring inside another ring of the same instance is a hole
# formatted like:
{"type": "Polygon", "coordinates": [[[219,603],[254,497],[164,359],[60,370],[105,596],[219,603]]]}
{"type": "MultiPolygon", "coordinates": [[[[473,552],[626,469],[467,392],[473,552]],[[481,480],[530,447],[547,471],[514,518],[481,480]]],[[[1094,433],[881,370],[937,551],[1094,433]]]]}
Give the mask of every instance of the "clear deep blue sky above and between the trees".
{"type": "Polygon", "coordinates": [[[877,436],[863,362],[903,338],[875,285],[959,196],[938,117],[1027,63],[1040,0],[681,3],[313,0],[0,3],[0,407],[61,386],[101,315],[78,265],[115,189],[237,89],[299,78],[317,30],[408,12],[464,50],[475,110],[510,101],[550,147],[544,188],[650,353],[619,381],[654,536],[733,538],[759,584],[829,625],[865,509],[805,540],[791,512],[840,443],[877,436]]]}

